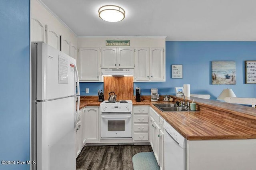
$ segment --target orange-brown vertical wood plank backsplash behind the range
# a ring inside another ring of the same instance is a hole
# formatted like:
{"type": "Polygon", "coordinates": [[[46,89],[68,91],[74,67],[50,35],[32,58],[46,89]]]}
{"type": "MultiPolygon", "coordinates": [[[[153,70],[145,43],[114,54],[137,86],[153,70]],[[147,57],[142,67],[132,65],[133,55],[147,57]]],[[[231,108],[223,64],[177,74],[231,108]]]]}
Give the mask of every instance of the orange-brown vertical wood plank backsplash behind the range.
{"type": "Polygon", "coordinates": [[[132,100],[133,77],[104,77],[104,98],[108,100],[108,93],[114,91],[116,100],[132,100]]]}

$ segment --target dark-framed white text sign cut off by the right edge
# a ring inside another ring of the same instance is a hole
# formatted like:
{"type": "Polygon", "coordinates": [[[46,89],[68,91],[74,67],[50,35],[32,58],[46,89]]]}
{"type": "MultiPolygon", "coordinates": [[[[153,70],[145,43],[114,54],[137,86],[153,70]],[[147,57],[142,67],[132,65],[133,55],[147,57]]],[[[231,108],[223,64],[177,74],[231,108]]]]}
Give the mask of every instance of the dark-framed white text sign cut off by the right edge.
{"type": "Polygon", "coordinates": [[[245,61],[245,83],[256,83],[256,61],[245,61]]]}

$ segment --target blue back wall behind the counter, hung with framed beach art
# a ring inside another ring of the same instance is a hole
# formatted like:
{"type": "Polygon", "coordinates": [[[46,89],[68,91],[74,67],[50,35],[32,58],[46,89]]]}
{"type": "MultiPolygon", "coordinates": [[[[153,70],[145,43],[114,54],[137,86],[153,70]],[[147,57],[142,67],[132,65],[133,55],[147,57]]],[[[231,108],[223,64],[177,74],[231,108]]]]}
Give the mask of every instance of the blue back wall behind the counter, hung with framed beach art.
{"type": "MultiPolygon", "coordinates": [[[[245,84],[245,60],[256,60],[256,42],[166,42],[166,82],[134,83],[134,94],[141,87],[142,95],[150,95],[151,88],[158,88],[160,95],[174,95],[175,87],[190,84],[190,93],[210,94],[211,99],[223,89],[232,89],[237,97],[256,97],[256,84],[245,84]],[[236,61],[236,85],[212,85],[211,61],[236,61]],[[171,78],[172,64],[183,65],[183,79],[171,78]]],[[[95,93],[90,95],[97,95],[94,85],[98,83],[81,83],[92,87],[95,93]]]]}

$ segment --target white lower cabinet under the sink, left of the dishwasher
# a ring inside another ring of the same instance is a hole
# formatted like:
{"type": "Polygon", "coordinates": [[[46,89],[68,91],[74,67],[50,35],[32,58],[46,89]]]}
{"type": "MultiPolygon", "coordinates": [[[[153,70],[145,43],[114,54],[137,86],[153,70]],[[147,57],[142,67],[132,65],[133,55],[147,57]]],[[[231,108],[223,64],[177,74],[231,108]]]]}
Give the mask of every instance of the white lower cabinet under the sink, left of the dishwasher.
{"type": "Polygon", "coordinates": [[[164,119],[150,107],[149,109],[150,145],[156,157],[160,170],[164,169],[164,119]]]}

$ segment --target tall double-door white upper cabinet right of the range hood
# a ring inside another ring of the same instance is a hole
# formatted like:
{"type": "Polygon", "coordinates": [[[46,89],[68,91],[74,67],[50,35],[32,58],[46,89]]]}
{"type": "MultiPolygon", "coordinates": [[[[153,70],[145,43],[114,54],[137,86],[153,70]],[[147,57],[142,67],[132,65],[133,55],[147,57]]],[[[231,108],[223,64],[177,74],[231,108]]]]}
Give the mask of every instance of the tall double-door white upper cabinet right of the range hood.
{"type": "Polygon", "coordinates": [[[136,48],[134,81],[165,81],[164,48],[136,48]]]}

